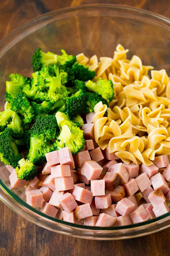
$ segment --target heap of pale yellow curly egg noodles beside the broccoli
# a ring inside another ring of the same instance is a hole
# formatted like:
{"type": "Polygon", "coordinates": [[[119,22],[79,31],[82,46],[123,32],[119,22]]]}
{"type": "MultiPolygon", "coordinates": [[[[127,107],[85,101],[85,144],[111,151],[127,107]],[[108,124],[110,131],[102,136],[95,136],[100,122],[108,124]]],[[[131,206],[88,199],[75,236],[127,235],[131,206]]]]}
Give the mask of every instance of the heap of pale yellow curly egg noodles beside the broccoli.
{"type": "Polygon", "coordinates": [[[99,62],[96,55],[76,56],[77,62],[95,70],[95,81],[100,77],[113,83],[109,108],[102,102],[94,108],[95,141],[126,164],[149,166],[155,155],[165,154],[170,160],[170,78],[165,69],[142,65],[136,55],[128,60],[127,52],[119,44],[113,58],[100,57],[99,62]]]}

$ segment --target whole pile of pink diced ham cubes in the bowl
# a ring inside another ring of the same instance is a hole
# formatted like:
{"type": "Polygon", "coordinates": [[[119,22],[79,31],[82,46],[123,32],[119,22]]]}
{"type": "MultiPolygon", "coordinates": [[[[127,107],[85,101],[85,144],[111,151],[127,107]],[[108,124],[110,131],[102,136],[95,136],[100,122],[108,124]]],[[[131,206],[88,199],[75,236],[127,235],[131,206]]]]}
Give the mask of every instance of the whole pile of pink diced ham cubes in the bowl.
{"type": "Polygon", "coordinates": [[[169,211],[170,164],[156,156],[150,166],[124,164],[94,141],[92,113],[83,125],[85,147],[72,155],[68,147],[46,154],[42,172],[29,182],[9,179],[12,188],[24,187],[34,208],[64,221],[110,227],[139,223],[169,211]]]}

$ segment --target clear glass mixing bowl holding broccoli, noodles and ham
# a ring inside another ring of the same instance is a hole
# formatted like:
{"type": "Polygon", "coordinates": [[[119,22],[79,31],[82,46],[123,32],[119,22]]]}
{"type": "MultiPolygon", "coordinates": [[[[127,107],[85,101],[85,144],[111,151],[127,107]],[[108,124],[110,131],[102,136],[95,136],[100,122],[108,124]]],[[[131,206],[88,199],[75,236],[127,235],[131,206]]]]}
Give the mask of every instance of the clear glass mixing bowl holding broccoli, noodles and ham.
{"type": "MultiPolygon", "coordinates": [[[[60,54],[83,52],[91,57],[113,57],[118,44],[129,49],[128,57],[139,56],[144,65],[165,68],[170,73],[170,20],[142,9],[120,5],[83,5],[42,15],[0,42],[0,111],[5,103],[5,81],[9,74],[32,73],[31,57],[43,51],[60,54]]],[[[112,240],[150,234],[170,226],[170,212],[146,222],[122,227],[89,227],[58,220],[25,202],[22,189],[11,189],[9,172],[0,165],[0,199],[27,220],[51,231],[74,237],[112,240]]]]}

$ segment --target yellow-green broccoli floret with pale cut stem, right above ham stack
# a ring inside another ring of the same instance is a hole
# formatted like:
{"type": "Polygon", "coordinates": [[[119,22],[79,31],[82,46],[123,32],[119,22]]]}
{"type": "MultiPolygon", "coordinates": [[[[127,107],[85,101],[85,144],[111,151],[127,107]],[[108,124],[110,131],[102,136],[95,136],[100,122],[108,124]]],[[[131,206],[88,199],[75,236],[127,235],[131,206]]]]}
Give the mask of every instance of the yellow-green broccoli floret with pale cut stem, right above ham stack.
{"type": "Polygon", "coordinates": [[[84,144],[83,131],[77,126],[69,127],[64,124],[59,137],[54,142],[54,149],[59,150],[60,148],[69,147],[71,153],[76,154],[83,149],[84,144]]]}

